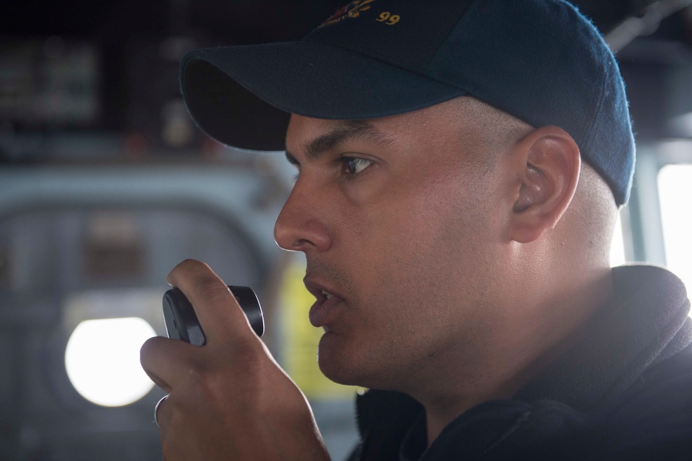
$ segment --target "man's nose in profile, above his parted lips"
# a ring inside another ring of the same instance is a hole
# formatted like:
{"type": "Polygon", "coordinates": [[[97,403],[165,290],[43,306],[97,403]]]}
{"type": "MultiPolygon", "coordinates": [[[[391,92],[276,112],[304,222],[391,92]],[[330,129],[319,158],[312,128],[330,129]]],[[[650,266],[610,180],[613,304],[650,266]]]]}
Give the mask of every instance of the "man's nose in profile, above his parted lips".
{"type": "Polygon", "coordinates": [[[324,194],[298,181],[274,224],[274,239],[288,251],[327,251],[331,233],[325,221],[327,201],[324,194]]]}

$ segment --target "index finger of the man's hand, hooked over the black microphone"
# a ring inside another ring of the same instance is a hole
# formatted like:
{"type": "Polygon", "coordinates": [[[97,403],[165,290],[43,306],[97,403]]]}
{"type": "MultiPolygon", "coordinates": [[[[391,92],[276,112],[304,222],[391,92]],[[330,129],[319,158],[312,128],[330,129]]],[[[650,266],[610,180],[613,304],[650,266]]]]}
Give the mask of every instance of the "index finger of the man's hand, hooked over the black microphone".
{"type": "Polygon", "coordinates": [[[167,280],[190,300],[207,343],[224,338],[242,341],[255,337],[235,296],[207,264],[185,260],[175,266],[167,280]]]}

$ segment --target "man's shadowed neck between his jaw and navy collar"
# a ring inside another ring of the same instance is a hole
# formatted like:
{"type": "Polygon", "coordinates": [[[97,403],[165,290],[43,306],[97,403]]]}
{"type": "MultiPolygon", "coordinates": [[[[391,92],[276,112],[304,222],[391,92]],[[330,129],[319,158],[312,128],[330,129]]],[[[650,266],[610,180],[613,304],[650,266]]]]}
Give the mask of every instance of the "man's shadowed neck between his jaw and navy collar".
{"type": "Polygon", "coordinates": [[[513,397],[574,345],[585,323],[610,296],[612,280],[608,267],[590,271],[588,277],[571,287],[563,286],[547,302],[512,309],[520,315],[507,316],[500,323],[501,328],[489,332],[495,338],[495,347],[483,354],[477,370],[457,370],[447,379],[438,379],[438,383],[456,383],[452,388],[413,395],[426,408],[428,446],[466,410],[485,401],[513,397]],[[459,379],[464,376],[473,376],[471,386],[468,380],[459,379]]]}

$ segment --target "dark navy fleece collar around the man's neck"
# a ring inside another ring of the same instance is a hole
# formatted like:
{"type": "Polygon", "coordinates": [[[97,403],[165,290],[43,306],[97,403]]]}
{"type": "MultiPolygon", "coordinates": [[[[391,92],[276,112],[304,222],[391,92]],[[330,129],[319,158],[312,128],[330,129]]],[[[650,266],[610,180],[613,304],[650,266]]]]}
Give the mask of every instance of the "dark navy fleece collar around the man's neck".
{"type": "Polygon", "coordinates": [[[464,453],[483,455],[516,434],[522,434],[522,445],[534,435],[559,437],[583,424],[586,413],[617,400],[646,368],[692,343],[690,301],[675,275],[655,266],[623,266],[612,277],[615,300],[599,309],[569,352],[512,400],[467,410],[427,451],[425,413],[417,401],[382,390],[359,396],[363,459],[412,461],[423,453],[426,460],[436,459],[450,442],[464,453]]]}

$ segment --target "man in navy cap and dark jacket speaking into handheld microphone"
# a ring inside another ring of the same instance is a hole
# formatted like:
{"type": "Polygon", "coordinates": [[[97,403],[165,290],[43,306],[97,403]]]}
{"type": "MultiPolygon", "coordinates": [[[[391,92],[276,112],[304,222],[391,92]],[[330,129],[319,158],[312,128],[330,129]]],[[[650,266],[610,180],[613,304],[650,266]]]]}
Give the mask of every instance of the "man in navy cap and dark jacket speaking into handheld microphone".
{"type": "MultiPolygon", "coordinates": [[[[181,78],[219,141],[286,132],[275,239],[307,257],[320,369],[371,389],[352,459],[692,457],[689,300],[663,269],[610,269],[634,141],[570,5],[354,1],[302,42],[194,51],[181,78]]],[[[169,282],[208,343],[143,347],[165,459],[328,459],[224,282],[194,261],[169,282]]]]}

